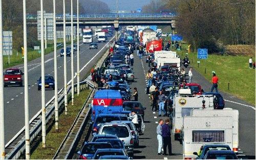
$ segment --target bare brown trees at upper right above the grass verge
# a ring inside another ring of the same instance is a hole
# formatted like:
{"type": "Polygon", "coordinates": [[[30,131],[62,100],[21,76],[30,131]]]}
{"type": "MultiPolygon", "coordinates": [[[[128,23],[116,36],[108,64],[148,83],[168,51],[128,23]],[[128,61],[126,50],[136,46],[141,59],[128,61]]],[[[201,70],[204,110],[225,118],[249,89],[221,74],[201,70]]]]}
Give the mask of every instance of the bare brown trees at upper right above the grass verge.
{"type": "Polygon", "coordinates": [[[209,53],[226,44],[255,44],[254,0],[166,0],[163,6],[178,13],[176,31],[209,53]]]}

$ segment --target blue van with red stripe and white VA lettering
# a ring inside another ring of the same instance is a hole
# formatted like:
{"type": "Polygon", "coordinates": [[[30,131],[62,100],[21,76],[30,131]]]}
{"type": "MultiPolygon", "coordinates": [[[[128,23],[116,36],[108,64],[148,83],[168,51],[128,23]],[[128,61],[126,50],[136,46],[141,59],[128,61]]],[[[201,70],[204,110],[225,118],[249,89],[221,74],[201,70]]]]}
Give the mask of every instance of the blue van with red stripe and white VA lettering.
{"type": "Polygon", "coordinates": [[[99,114],[111,114],[123,110],[122,96],[118,90],[98,90],[92,101],[92,121],[99,114]]]}

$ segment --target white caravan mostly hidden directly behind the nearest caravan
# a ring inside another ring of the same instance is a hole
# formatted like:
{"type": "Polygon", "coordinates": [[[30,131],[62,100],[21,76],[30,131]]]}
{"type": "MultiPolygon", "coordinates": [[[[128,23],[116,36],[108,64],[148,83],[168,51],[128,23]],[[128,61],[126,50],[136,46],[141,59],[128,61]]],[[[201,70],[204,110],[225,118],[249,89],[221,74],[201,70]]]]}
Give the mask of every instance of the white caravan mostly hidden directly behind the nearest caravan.
{"type": "Polygon", "coordinates": [[[232,108],[224,109],[193,109],[190,111],[190,115],[194,117],[232,117],[233,125],[233,145],[230,147],[234,152],[238,153],[239,146],[239,111],[232,108]]]}

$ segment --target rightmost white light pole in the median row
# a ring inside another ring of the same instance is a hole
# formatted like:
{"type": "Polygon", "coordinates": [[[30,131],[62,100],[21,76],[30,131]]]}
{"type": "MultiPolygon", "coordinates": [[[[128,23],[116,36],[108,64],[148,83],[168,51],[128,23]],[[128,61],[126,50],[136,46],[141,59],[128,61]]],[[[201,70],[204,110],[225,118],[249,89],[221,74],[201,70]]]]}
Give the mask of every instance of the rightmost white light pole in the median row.
{"type": "Polygon", "coordinates": [[[77,96],[80,95],[80,75],[79,75],[79,70],[80,70],[80,66],[79,66],[79,0],[77,0],[77,96]]]}

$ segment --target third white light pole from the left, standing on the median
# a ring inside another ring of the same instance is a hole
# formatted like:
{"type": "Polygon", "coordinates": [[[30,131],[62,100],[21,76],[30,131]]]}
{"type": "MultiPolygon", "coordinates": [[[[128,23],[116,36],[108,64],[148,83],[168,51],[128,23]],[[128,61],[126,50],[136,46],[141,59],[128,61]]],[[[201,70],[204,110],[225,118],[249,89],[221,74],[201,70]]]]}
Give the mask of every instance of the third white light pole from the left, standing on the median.
{"type": "Polygon", "coordinates": [[[44,49],[44,7],[41,6],[41,105],[42,105],[42,147],[46,147],[46,100],[45,100],[45,49],[44,49]]]}

